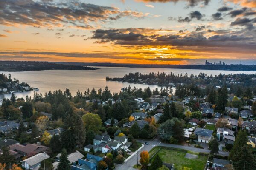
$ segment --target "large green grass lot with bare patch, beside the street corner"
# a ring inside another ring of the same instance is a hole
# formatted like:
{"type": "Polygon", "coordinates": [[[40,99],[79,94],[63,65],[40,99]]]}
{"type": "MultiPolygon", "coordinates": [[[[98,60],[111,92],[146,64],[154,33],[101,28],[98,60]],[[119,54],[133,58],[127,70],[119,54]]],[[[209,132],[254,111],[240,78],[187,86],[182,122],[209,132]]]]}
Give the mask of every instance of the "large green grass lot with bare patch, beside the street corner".
{"type": "MultiPolygon", "coordinates": [[[[160,147],[154,147],[150,152],[150,155],[154,155],[160,147]]],[[[196,154],[199,153],[192,153],[191,151],[184,151],[184,150],[172,150],[171,148],[161,148],[157,153],[163,162],[167,162],[169,164],[174,164],[175,170],[180,169],[180,167],[189,167],[193,170],[204,170],[205,164],[207,162],[208,156],[199,155],[198,159],[187,159],[185,158],[186,153],[196,154]]]]}

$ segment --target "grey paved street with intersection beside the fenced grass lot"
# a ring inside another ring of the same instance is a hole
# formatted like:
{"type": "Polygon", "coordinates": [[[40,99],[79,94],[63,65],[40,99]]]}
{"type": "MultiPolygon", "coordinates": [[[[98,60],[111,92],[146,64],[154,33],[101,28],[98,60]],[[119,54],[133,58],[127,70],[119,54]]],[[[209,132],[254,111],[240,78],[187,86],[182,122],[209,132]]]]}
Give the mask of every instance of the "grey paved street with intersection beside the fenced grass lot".
{"type": "MultiPolygon", "coordinates": [[[[193,152],[201,152],[201,153],[210,153],[209,149],[200,149],[200,148],[196,148],[196,147],[189,147],[189,146],[183,146],[183,145],[177,145],[177,144],[168,144],[168,143],[162,143],[160,141],[159,136],[157,138],[155,138],[154,140],[141,140],[138,139],[137,142],[148,142],[148,145],[144,144],[144,147],[142,147],[139,151],[139,161],[140,161],[140,152],[143,150],[147,150],[148,152],[156,146],[163,146],[163,147],[174,147],[174,148],[179,148],[179,149],[184,149],[184,150],[191,150],[193,152]]],[[[223,151],[219,151],[219,154],[221,156],[228,156],[229,153],[228,152],[223,152],[223,151]]],[[[140,162],[139,162],[140,163],[140,162]]],[[[116,165],[116,170],[136,170],[133,168],[133,166],[137,164],[137,154],[135,154],[134,156],[132,156],[128,161],[124,162],[123,164],[119,165],[119,164],[115,164],[116,165]]]]}

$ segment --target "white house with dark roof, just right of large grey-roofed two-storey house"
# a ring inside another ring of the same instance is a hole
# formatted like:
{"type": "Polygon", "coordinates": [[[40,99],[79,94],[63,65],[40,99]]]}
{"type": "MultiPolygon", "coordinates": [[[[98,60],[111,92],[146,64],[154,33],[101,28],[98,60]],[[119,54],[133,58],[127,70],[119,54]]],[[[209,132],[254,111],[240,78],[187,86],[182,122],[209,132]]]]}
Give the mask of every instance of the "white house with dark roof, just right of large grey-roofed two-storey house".
{"type": "Polygon", "coordinates": [[[225,142],[225,144],[234,144],[235,133],[228,128],[218,128],[217,139],[218,141],[225,142]]]}

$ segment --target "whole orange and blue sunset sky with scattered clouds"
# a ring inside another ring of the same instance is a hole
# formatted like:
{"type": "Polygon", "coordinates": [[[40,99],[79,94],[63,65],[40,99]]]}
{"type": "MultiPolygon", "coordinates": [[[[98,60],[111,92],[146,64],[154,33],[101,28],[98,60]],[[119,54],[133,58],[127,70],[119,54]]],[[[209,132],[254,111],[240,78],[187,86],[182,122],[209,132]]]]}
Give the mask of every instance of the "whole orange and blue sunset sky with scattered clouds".
{"type": "Polygon", "coordinates": [[[256,0],[0,0],[0,60],[256,64],[256,0]]]}

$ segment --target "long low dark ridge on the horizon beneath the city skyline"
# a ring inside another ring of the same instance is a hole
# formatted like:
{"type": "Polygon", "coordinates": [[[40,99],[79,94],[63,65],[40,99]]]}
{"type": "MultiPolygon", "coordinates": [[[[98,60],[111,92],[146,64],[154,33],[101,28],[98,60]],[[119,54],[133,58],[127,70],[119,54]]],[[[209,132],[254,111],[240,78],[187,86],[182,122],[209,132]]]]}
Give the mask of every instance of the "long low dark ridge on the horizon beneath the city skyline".
{"type": "Polygon", "coordinates": [[[232,70],[232,71],[256,71],[256,65],[169,65],[169,64],[124,64],[124,63],[85,63],[85,62],[57,62],[61,64],[72,64],[92,67],[142,67],[142,68],[180,68],[199,70],[232,70]]]}

